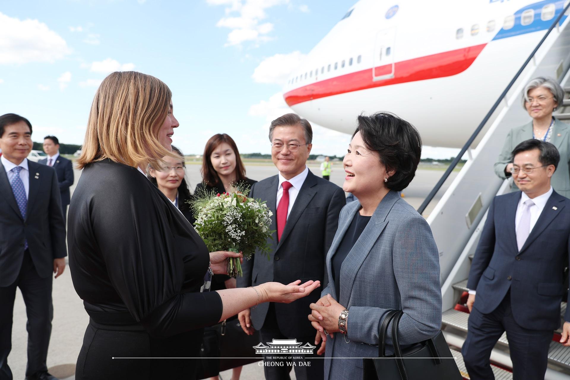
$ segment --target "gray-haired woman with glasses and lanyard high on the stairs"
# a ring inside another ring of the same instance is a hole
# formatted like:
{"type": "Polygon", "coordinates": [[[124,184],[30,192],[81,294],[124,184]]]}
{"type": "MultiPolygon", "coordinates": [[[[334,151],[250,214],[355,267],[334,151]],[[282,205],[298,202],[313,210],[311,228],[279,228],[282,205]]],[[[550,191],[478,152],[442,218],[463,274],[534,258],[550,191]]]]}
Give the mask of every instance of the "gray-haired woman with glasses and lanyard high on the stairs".
{"type": "MultiPolygon", "coordinates": [[[[511,152],[520,142],[530,138],[551,142],[560,153],[560,164],[551,179],[552,187],[557,193],[570,198],[569,126],[552,116],[552,112],[564,99],[564,90],[556,80],[540,76],[526,85],[523,94],[523,107],[532,117],[532,121],[508,132],[503,150],[495,162],[495,173],[502,179],[511,177],[511,152]]],[[[512,182],[511,191],[518,190],[519,188],[512,182]]]]}

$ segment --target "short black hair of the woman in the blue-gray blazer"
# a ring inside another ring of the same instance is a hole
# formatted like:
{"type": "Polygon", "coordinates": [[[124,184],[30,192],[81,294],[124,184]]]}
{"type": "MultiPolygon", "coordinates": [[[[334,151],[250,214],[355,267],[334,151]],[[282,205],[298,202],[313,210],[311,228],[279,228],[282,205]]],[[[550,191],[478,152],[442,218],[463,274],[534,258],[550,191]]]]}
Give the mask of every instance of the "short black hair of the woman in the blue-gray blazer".
{"type": "MultiPolygon", "coordinates": [[[[422,154],[422,139],[418,130],[404,119],[389,112],[360,115],[352,137],[360,132],[368,150],[377,152],[386,171],[395,170],[385,186],[402,191],[416,175],[422,154]]],[[[379,178],[384,181],[384,178],[379,178]]]]}

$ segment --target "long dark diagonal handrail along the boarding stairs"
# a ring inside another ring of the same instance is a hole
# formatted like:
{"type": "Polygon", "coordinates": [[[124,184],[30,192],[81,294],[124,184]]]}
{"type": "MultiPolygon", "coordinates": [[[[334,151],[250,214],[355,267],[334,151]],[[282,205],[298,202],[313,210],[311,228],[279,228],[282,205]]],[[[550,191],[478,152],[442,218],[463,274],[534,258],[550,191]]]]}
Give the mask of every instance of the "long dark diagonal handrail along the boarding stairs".
{"type": "Polygon", "coordinates": [[[512,78],[512,80],[510,81],[510,83],[507,85],[507,87],[503,90],[503,92],[501,93],[501,95],[499,96],[499,99],[497,99],[495,101],[495,104],[493,105],[493,107],[489,110],[489,112],[487,112],[487,115],[484,117],[483,121],[481,121],[481,124],[479,124],[479,126],[477,127],[477,129],[475,129],[475,131],[473,132],[473,134],[471,134],[471,137],[469,137],[469,140],[467,140],[467,142],[465,143],[465,145],[463,145],[463,148],[461,148],[461,151],[459,152],[459,154],[457,154],[457,156],[455,157],[455,159],[453,160],[453,162],[451,162],[451,164],[447,167],[447,170],[445,170],[445,173],[443,173],[442,177],[439,179],[439,181],[435,184],[434,188],[431,189],[430,193],[427,194],[426,199],[424,199],[424,202],[421,204],[421,206],[418,208],[418,213],[423,214],[427,205],[429,205],[429,203],[431,201],[433,201],[433,198],[435,197],[435,194],[437,194],[437,192],[439,191],[439,189],[441,189],[441,186],[443,186],[443,183],[447,180],[447,178],[449,177],[449,175],[451,174],[451,171],[453,171],[455,169],[455,166],[457,166],[457,164],[459,163],[459,161],[461,161],[461,158],[463,157],[463,154],[465,154],[465,152],[467,152],[467,149],[469,149],[469,147],[471,146],[471,144],[473,144],[473,141],[475,141],[475,138],[477,138],[477,136],[479,135],[479,132],[481,132],[481,130],[483,129],[483,127],[485,126],[485,124],[487,124],[487,121],[489,119],[491,119],[492,114],[496,111],[497,107],[499,107],[499,104],[503,101],[504,97],[507,96],[508,91],[511,89],[512,85],[515,84],[515,81],[517,79],[519,79],[520,74],[524,71],[524,69],[527,67],[528,63],[531,62],[532,58],[535,56],[536,52],[539,50],[540,46],[542,46],[543,42],[547,39],[548,35],[550,34],[550,32],[554,29],[554,27],[560,22],[560,20],[562,19],[562,17],[564,16],[564,14],[566,13],[566,11],[570,8],[570,2],[568,2],[568,5],[564,7],[564,9],[560,12],[560,14],[558,15],[558,17],[556,18],[556,20],[552,23],[552,25],[548,28],[548,31],[544,34],[543,38],[540,40],[540,42],[538,43],[538,45],[536,45],[536,47],[534,48],[534,50],[531,52],[531,54],[528,56],[527,60],[523,63],[523,66],[520,67],[519,71],[516,72],[515,76],[512,78]]]}

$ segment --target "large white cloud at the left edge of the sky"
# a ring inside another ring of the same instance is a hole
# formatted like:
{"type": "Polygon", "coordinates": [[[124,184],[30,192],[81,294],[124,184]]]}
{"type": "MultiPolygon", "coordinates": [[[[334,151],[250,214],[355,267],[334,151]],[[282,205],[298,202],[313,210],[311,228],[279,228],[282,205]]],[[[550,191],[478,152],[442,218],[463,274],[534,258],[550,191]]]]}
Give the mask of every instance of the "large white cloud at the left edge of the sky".
{"type": "Polygon", "coordinates": [[[43,22],[0,13],[0,64],[55,62],[70,52],[66,41],[43,22]]]}

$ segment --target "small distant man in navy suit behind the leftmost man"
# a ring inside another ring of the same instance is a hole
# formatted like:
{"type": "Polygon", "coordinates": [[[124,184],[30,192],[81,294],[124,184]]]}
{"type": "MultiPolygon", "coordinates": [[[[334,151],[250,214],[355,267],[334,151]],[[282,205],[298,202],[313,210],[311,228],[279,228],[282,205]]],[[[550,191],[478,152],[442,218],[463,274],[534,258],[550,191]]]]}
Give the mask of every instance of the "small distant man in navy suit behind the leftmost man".
{"type": "Polygon", "coordinates": [[[70,160],[59,155],[59,140],[55,136],[46,136],[43,138],[43,151],[46,152],[47,158],[43,158],[38,162],[47,166],[52,166],[58,175],[59,194],[62,197],[63,220],[67,222],[67,206],[70,204],[70,186],[73,185],[73,165],[70,160]]]}

